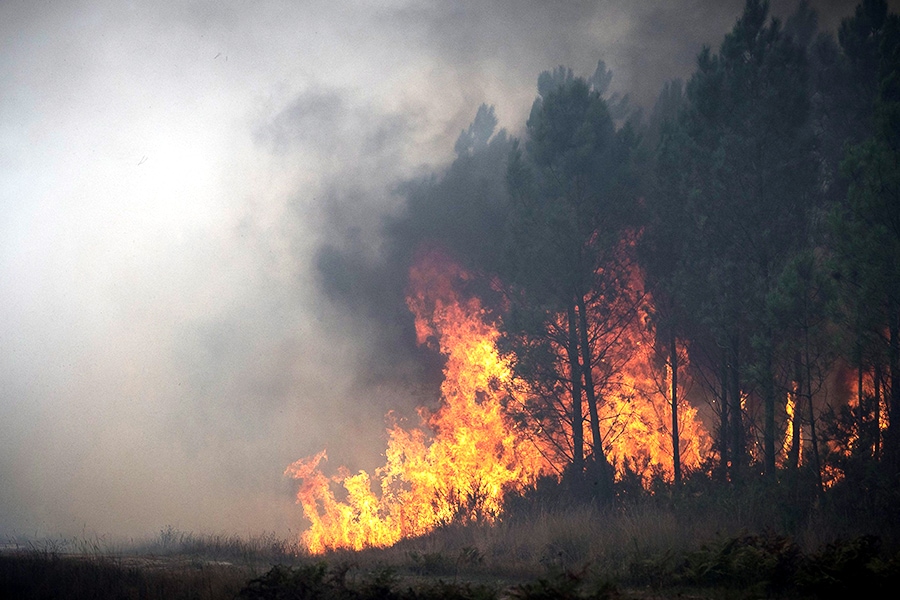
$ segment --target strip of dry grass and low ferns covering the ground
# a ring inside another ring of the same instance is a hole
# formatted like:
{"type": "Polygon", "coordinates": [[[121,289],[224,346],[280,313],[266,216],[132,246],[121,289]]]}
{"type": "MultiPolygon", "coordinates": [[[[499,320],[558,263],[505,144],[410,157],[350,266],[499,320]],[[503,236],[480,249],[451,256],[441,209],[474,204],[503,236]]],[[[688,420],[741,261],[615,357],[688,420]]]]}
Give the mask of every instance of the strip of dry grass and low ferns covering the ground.
{"type": "Polygon", "coordinates": [[[172,528],[119,547],[13,541],[0,554],[0,597],[843,598],[900,583],[890,518],[854,516],[826,497],[800,519],[765,491],[606,509],[523,501],[493,525],[320,556],[274,535],[172,528]]]}

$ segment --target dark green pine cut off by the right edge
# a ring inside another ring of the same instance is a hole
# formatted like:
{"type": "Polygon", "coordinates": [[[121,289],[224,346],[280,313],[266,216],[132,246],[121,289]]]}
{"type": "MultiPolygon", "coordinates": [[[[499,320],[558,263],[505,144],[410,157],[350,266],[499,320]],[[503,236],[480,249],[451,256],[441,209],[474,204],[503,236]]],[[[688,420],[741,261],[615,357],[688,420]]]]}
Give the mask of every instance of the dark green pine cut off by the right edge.
{"type": "Polygon", "coordinates": [[[842,164],[848,192],[830,221],[836,277],[851,364],[878,374],[887,399],[883,463],[900,474],[900,16],[866,0],[842,23],[840,40],[874,126],[842,164]]]}

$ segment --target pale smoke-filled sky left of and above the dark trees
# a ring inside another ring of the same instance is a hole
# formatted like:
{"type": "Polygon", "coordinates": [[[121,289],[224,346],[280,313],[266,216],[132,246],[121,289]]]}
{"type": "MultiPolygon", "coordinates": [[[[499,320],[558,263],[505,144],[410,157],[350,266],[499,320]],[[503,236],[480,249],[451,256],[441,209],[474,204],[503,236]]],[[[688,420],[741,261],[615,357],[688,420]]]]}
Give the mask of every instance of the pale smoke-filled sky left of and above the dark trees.
{"type": "Polygon", "coordinates": [[[517,134],[602,59],[650,105],[742,5],[0,2],[0,543],[302,530],[287,465],[372,468],[419,400],[359,384],[317,249],[377,254],[481,103],[517,134]]]}

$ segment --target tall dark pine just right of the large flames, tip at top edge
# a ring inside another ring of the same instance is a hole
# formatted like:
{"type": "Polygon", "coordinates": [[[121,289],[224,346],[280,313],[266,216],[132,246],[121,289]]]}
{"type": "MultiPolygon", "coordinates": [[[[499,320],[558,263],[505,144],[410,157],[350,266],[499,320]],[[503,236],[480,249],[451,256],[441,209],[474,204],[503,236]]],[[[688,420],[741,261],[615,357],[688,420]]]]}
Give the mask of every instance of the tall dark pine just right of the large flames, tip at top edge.
{"type": "Polygon", "coordinates": [[[767,302],[785,261],[807,242],[815,163],[806,81],[804,49],[769,20],[767,2],[748,0],[719,54],[704,49],[688,84],[685,127],[703,173],[691,192],[689,271],[702,290],[695,308],[724,349],[736,472],[746,461],[742,400],[753,383],[764,408],[765,470],[775,473],[779,324],[767,302]]]}

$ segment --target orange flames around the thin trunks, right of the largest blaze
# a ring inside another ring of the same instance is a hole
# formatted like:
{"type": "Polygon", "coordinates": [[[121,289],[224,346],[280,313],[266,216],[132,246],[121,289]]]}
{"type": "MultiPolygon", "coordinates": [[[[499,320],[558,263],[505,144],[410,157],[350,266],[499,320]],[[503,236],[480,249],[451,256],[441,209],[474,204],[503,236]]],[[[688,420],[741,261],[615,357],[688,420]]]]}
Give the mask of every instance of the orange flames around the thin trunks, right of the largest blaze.
{"type": "MultiPolygon", "coordinates": [[[[591,297],[585,310],[595,360],[592,374],[598,397],[600,445],[617,480],[636,475],[644,487],[649,487],[654,478],[667,482],[674,479],[672,371],[670,357],[654,343],[654,326],[648,311],[653,298],[644,291],[643,273],[632,260],[636,241],[637,235],[629,234],[619,242],[605,272],[598,273],[614,291],[591,297]]],[[[553,327],[565,331],[566,315],[557,315],[553,327]]],[[[569,379],[565,343],[564,337],[556,336],[554,356],[557,372],[569,379]]],[[[712,439],[698,410],[687,400],[689,357],[682,344],[678,344],[677,354],[680,462],[683,471],[690,471],[699,468],[709,454],[712,439]]],[[[571,459],[573,425],[568,415],[572,412],[572,400],[571,390],[559,387],[555,384],[554,388],[540,390],[544,398],[531,404],[537,406],[533,410],[536,414],[551,404],[551,420],[563,423],[562,427],[544,423],[542,428],[547,442],[542,447],[563,470],[565,461],[571,459]],[[548,403],[547,398],[552,402],[548,403]]],[[[589,456],[595,441],[586,423],[583,436],[589,456]]]]}

